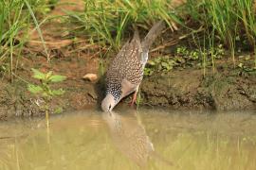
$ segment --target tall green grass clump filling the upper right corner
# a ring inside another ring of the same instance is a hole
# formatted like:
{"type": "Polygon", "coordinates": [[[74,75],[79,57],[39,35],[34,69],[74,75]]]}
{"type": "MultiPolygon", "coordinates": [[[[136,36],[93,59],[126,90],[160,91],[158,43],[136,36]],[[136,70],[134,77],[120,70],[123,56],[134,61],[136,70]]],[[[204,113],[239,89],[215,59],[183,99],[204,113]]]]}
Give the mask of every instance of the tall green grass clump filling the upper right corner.
{"type": "MultiPolygon", "coordinates": [[[[199,26],[204,26],[210,46],[223,42],[236,65],[239,48],[255,51],[256,15],[251,0],[189,0],[188,13],[199,26]]],[[[213,61],[214,62],[214,61],[213,61]]],[[[254,59],[256,67],[256,57],[254,59]]]]}

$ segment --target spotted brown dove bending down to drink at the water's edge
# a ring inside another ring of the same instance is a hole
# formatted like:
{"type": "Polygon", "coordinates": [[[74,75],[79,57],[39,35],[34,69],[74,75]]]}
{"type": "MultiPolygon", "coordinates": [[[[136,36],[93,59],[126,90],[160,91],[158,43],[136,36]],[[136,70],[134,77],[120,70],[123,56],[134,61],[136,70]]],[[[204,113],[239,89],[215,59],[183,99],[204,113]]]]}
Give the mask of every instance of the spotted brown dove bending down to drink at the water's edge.
{"type": "Polygon", "coordinates": [[[136,29],[132,41],[123,45],[106,74],[106,97],[101,103],[102,110],[112,110],[121,98],[130,93],[136,92],[136,98],[149,48],[164,27],[162,21],[156,23],[142,42],[136,29]]]}

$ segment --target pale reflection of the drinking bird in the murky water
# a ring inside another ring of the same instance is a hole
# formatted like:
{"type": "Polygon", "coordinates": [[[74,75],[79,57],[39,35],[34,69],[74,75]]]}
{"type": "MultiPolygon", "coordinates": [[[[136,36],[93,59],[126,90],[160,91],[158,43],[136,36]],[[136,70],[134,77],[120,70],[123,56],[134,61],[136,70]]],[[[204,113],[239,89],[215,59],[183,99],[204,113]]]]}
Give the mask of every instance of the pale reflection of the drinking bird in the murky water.
{"type": "Polygon", "coordinates": [[[145,167],[150,157],[173,165],[171,161],[165,161],[155,153],[154,144],[138,120],[136,110],[128,110],[123,114],[114,111],[104,112],[102,116],[110,129],[114,144],[137,165],[145,167]]]}

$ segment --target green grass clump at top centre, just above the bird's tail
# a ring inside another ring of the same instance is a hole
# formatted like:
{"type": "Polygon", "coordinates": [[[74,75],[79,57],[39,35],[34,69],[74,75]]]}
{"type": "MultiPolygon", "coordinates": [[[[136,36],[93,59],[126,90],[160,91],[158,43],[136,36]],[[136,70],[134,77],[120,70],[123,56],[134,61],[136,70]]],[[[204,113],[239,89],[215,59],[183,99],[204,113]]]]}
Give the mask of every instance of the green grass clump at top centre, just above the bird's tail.
{"type": "Polygon", "coordinates": [[[133,32],[131,28],[135,23],[146,30],[154,21],[160,19],[166,21],[172,28],[174,28],[172,21],[181,24],[170,2],[169,0],[118,0],[113,3],[111,0],[84,0],[84,12],[70,13],[70,15],[77,19],[93,42],[111,45],[115,50],[119,50],[124,38],[133,32]]]}

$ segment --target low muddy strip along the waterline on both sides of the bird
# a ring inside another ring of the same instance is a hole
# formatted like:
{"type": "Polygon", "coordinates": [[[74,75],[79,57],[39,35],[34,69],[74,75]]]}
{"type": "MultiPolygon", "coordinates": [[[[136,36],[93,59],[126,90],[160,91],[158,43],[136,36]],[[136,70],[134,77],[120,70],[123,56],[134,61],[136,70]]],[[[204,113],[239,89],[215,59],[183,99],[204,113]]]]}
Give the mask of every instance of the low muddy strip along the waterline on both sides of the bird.
{"type": "MultiPolygon", "coordinates": [[[[68,76],[67,73],[63,75],[68,76]]],[[[71,75],[58,86],[64,88],[65,93],[53,100],[53,108],[62,106],[64,110],[83,110],[99,106],[101,102],[102,80],[89,82],[82,76],[71,75]]],[[[2,120],[11,116],[44,114],[43,110],[39,110],[40,98],[27,92],[26,83],[19,79],[13,84],[3,81],[0,87],[2,120]]],[[[140,92],[140,105],[174,109],[256,109],[256,76],[253,73],[219,72],[204,78],[201,70],[174,70],[164,75],[146,76],[140,92]]],[[[126,104],[129,99],[127,97],[120,104],[126,104]]]]}

